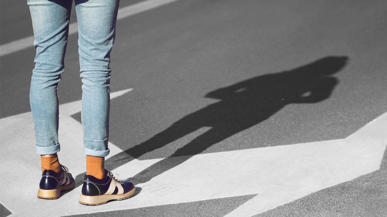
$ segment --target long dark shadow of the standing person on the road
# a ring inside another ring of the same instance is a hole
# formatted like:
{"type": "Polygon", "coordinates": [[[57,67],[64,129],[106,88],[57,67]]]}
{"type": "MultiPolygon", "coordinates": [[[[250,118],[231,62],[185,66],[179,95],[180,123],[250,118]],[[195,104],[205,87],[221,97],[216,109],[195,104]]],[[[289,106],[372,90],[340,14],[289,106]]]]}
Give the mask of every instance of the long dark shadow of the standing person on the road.
{"type": "Polygon", "coordinates": [[[346,56],[328,56],[290,71],[257,76],[209,92],[205,97],[221,101],[183,117],[147,141],[112,156],[105,161],[105,168],[113,170],[202,127],[211,127],[168,158],[129,178],[135,184],[149,181],[213,144],[268,119],[285,105],[317,103],[329,98],[339,82],[333,75],[347,60],[346,56]]]}

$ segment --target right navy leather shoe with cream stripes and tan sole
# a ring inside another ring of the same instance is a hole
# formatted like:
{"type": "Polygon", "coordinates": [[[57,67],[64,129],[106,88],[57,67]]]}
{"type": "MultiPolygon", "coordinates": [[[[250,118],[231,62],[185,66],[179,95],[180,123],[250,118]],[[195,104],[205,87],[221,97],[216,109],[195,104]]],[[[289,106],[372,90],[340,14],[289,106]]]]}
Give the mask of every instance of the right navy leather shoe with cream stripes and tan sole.
{"type": "Polygon", "coordinates": [[[113,173],[105,170],[106,177],[98,179],[85,175],[79,203],[84,205],[101,205],[109,200],[124,200],[136,192],[134,184],[129,180],[119,180],[113,173]]]}

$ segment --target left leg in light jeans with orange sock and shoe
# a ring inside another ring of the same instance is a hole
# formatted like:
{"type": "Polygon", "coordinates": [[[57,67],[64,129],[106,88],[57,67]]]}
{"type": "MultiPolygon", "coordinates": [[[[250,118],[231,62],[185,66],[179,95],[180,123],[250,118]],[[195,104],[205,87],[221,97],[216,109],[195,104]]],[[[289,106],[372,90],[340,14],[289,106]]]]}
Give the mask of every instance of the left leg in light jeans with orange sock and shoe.
{"type": "Polygon", "coordinates": [[[74,187],[67,168],[60,165],[58,142],[58,82],[64,71],[68,23],[72,0],[27,0],[34,29],[35,68],[31,78],[30,105],[36,153],[41,155],[42,179],[38,197],[57,199],[74,187]],[[65,168],[65,169],[63,169],[65,168]]]}

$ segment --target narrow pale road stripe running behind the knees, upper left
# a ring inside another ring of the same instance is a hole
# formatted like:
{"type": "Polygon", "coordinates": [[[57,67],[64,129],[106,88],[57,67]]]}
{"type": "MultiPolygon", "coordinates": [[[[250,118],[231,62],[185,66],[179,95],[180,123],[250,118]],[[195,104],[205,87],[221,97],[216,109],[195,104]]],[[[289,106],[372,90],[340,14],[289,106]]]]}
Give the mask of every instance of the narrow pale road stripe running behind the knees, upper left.
{"type": "MultiPolygon", "coordinates": [[[[118,10],[117,20],[176,1],[177,0],[146,0],[139,3],[135,3],[133,5],[128,5],[127,7],[123,7],[118,10]]],[[[70,26],[68,27],[68,34],[75,34],[77,32],[78,23],[70,24],[70,26]]],[[[16,41],[11,41],[6,44],[2,44],[0,46],[0,56],[5,56],[29,47],[33,47],[34,39],[34,36],[28,36],[16,41]]]]}

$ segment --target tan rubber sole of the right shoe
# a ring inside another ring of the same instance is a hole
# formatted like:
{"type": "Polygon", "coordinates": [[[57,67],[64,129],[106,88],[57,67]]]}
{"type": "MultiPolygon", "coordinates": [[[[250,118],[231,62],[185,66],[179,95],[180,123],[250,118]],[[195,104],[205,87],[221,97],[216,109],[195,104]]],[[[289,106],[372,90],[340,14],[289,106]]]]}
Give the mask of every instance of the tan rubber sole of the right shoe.
{"type": "Polygon", "coordinates": [[[83,194],[80,194],[79,203],[90,206],[102,205],[108,202],[109,200],[125,200],[127,198],[132,197],[135,192],[136,188],[133,188],[130,192],[120,195],[85,196],[83,194]]]}

